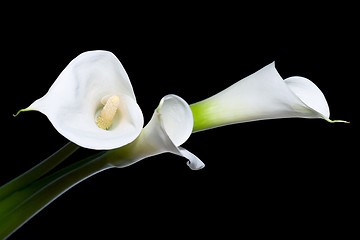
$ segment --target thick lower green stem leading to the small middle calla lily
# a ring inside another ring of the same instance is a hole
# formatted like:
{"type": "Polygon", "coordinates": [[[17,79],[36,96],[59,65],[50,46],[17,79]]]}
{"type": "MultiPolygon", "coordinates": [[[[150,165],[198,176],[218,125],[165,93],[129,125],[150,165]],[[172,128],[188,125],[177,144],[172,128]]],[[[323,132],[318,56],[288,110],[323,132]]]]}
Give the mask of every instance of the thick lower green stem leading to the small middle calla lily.
{"type": "Polygon", "coordinates": [[[62,193],[88,177],[111,168],[101,152],[38,179],[0,201],[0,239],[8,237],[62,193]]]}

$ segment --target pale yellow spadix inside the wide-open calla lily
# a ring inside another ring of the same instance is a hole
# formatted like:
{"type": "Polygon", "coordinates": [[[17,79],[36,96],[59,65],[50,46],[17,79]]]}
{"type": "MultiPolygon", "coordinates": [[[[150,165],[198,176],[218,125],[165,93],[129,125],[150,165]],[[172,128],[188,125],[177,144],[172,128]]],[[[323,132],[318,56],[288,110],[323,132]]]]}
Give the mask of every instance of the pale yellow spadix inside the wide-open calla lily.
{"type": "Polygon", "coordinates": [[[116,111],[120,106],[120,98],[114,95],[103,98],[101,102],[105,106],[101,110],[99,116],[96,118],[96,125],[101,129],[107,130],[111,127],[111,124],[114,121],[116,111]],[[106,98],[108,99],[106,100],[106,98]]]}

